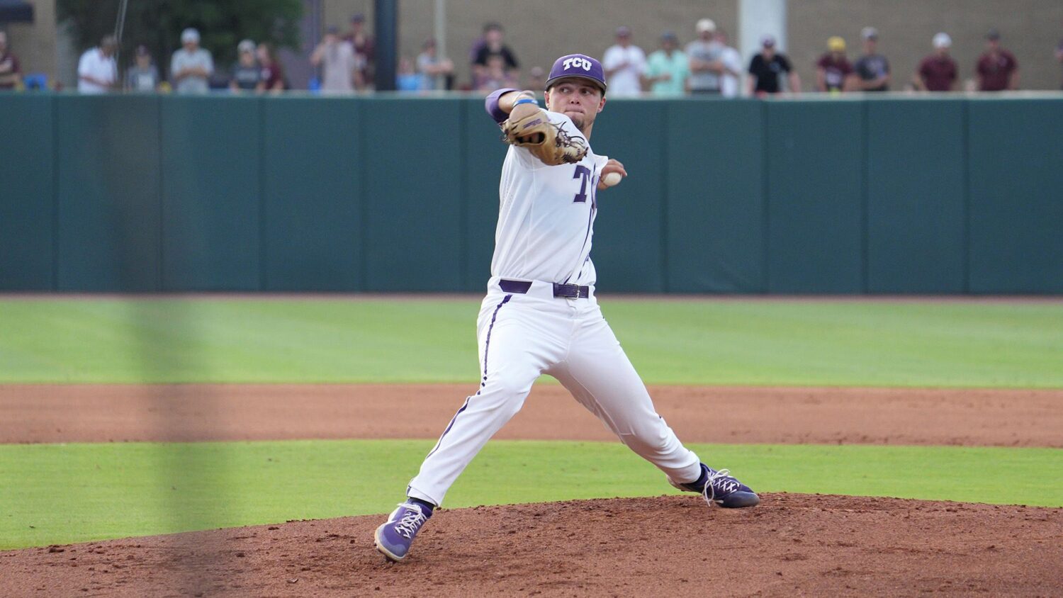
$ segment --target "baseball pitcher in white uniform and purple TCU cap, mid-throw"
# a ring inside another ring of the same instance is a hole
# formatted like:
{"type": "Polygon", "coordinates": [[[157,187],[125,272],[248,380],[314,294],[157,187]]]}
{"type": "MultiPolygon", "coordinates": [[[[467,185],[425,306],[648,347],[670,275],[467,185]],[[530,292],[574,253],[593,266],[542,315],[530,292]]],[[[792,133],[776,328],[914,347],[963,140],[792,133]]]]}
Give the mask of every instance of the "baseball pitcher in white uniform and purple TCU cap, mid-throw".
{"type": "Polygon", "coordinates": [[[375,546],[389,560],[406,558],[446,491],[517,414],[541,374],[557,378],[676,488],[722,507],[760,502],[727,469],[709,468],[679,442],[602,317],[590,258],[597,192],[627,174],[588,144],[605,91],[602,65],[570,54],[550,71],[546,110],[532,91],[502,88],[487,97],[485,107],[511,147],[499,185],[491,278],[476,322],[479,389],[425,457],[407,499],[376,529],[375,546]]]}

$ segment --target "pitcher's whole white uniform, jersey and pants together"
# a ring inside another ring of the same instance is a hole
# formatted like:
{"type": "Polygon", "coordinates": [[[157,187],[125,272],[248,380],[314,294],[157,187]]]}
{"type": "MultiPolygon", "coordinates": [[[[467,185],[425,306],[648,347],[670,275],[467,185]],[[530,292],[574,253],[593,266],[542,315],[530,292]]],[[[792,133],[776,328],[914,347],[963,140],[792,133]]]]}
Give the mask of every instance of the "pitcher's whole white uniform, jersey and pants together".
{"type": "MultiPolygon", "coordinates": [[[[488,106],[500,120],[490,98],[488,106]]],[[[547,114],[569,135],[584,137],[569,117],[547,114]]],[[[442,505],[454,480],[517,414],[542,374],[557,378],[673,481],[687,483],[701,475],[697,456],[657,414],[597,305],[590,252],[595,189],[606,161],[588,150],[578,164],[546,166],[526,149],[509,148],[499,185],[492,276],[476,320],[479,389],[466,398],[424,459],[408,496],[442,505]],[[514,286],[513,280],[529,284],[514,286]],[[557,296],[556,283],[589,290],[578,298],[557,296]]]]}

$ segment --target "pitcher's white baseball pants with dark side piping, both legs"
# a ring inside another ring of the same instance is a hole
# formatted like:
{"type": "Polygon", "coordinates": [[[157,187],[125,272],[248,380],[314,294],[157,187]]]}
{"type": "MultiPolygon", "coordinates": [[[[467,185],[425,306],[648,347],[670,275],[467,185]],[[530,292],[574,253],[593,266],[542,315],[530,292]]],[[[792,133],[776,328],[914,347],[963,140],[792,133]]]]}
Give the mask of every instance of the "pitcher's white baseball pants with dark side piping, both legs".
{"type": "Polygon", "coordinates": [[[654,410],[649,393],[587,298],[554,297],[552,283],[506,293],[491,278],[476,321],[480,387],[466,398],[421,464],[407,495],[442,505],[473,457],[524,405],[541,374],[557,378],[626,446],[677,482],[692,482],[701,461],[654,410]]]}

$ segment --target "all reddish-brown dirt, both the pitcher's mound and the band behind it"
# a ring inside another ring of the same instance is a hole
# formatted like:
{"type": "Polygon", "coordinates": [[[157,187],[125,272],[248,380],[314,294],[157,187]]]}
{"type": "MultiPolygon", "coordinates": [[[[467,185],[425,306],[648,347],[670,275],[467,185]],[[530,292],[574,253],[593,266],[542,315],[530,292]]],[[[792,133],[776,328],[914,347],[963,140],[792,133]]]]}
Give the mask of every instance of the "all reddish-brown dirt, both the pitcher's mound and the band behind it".
{"type": "MultiPolygon", "coordinates": [[[[0,442],[435,438],[467,391],[0,386],[0,442]]],[[[651,391],[688,442],[1063,446],[1063,391],[651,391]]],[[[499,438],[612,437],[563,389],[537,386],[499,438]]],[[[762,498],[742,510],[695,496],[440,510],[400,564],[372,546],[379,515],[12,550],[0,594],[1063,595],[1063,509],[762,498]]]]}

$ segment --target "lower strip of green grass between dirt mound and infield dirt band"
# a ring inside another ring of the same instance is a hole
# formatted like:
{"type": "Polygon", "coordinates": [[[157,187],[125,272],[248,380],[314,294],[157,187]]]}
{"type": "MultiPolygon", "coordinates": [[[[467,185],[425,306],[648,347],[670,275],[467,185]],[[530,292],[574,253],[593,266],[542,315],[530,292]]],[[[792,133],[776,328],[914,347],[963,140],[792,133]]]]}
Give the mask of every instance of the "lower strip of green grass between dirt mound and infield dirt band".
{"type": "MultiPolygon", "coordinates": [[[[385,513],[432,441],[0,445],[0,549],[385,513]]],[[[1063,507],[1050,448],[692,445],[761,492],[1063,507]]],[[[497,441],[445,507],[675,491],[617,443],[497,441]]],[[[691,496],[692,500],[697,498],[691,496]]]]}

